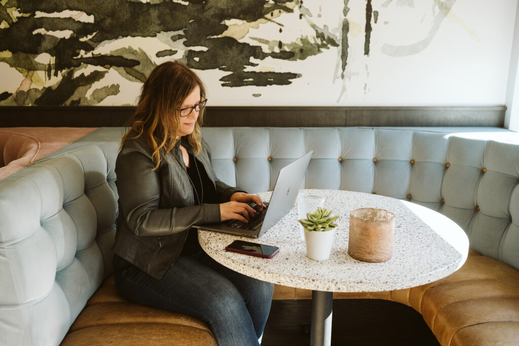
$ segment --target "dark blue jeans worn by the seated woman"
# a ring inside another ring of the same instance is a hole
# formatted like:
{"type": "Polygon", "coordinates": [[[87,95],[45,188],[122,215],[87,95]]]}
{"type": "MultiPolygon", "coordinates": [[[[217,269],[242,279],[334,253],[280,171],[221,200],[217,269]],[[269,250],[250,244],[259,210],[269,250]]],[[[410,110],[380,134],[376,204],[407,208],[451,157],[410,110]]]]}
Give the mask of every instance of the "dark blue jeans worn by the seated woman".
{"type": "Polygon", "coordinates": [[[203,251],[180,256],[157,280],[114,255],[115,285],[126,299],[209,324],[220,346],[259,345],[274,285],[230,270],[203,251]]]}

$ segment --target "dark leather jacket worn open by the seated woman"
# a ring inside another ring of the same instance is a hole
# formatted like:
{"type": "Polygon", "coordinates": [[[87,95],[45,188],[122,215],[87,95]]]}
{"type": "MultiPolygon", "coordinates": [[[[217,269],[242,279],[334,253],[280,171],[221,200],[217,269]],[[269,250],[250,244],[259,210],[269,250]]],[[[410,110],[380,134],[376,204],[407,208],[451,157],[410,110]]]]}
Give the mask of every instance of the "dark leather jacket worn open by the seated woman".
{"type": "MultiPolygon", "coordinates": [[[[161,153],[159,168],[153,171],[153,151],[146,140],[128,139],[115,163],[119,216],[114,253],[156,279],[175,263],[194,224],[220,222],[220,205],[194,205],[180,144],[193,153],[182,137],[169,153],[161,153]]],[[[220,203],[241,191],[216,178],[205,141],[197,158],[215,184],[220,203]]]]}

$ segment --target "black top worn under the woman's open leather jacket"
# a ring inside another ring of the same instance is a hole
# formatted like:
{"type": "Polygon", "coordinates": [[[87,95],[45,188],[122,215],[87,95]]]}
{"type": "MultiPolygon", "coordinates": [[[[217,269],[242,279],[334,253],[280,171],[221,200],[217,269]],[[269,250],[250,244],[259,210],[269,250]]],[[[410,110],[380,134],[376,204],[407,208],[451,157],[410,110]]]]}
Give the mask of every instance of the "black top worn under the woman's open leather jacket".
{"type": "MultiPolygon", "coordinates": [[[[195,205],[202,203],[218,204],[216,188],[203,168],[203,164],[193,154],[188,153],[188,155],[190,167],[186,167],[186,171],[193,187],[195,205]]],[[[197,229],[192,228],[189,230],[181,254],[188,255],[199,250],[201,250],[201,247],[198,242],[198,232],[197,229]]]]}

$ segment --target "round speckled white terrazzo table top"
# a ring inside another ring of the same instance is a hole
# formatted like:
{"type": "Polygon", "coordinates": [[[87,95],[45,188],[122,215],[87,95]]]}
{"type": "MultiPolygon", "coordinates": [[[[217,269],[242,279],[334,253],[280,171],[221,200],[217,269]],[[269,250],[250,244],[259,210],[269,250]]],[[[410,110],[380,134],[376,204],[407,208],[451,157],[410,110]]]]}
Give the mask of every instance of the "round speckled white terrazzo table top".
{"type": "MultiPolygon", "coordinates": [[[[300,190],[299,195],[321,193],[325,207],[339,215],[329,259],[306,256],[297,222],[297,201],[260,238],[198,231],[203,250],[222,265],[263,281],[327,292],[378,292],[415,287],[440,280],[459,269],[469,250],[465,232],[446,216],[427,207],[390,197],[343,190],[300,190]],[[381,263],[368,263],[348,255],[350,211],[360,207],[386,209],[395,214],[393,255],[381,263]],[[272,258],[227,252],[236,239],[280,248],[272,258]]],[[[258,193],[269,201],[271,192],[258,193]]]]}

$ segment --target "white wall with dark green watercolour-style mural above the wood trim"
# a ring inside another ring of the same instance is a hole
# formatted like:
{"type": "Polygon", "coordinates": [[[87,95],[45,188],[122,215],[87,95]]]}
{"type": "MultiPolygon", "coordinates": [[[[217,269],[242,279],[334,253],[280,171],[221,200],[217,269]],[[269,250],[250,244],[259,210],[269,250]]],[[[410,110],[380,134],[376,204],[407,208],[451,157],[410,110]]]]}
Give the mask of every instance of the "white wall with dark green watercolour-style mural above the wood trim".
{"type": "Polygon", "coordinates": [[[167,60],[194,68],[214,106],[505,104],[516,0],[251,1],[256,8],[237,1],[240,12],[214,0],[203,5],[220,11],[211,18],[198,14],[208,8],[183,0],[135,1],[127,17],[169,6],[170,17],[182,13],[185,27],[152,21],[146,30],[135,24],[134,33],[119,32],[125,23],[117,30],[97,26],[106,7],[98,13],[58,2],[11,10],[15,20],[0,25],[0,105],[133,105],[143,78],[167,60]],[[52,30],[60,18],[73,29],[52,30]],[[24,48],[9,41],[31,19],[27,39],[35,43],[24,48]],[[60,40],[77,44],[69,60],[59,55],[60,40]],[[243,47],[261,50],[235,64],[243,47]]]}

